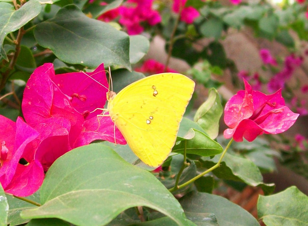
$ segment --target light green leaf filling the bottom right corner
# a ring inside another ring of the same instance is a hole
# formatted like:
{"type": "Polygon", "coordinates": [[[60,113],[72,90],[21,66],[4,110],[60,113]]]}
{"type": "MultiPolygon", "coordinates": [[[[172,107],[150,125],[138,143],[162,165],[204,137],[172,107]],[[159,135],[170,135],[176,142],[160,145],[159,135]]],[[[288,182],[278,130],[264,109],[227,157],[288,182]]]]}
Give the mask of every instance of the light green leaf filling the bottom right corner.
{"type": "Polygon", "coordinates": [[[274,195],[260,195],[257,208],[267,226],[308,225],[308,197],[295,186],[274,195]]]}

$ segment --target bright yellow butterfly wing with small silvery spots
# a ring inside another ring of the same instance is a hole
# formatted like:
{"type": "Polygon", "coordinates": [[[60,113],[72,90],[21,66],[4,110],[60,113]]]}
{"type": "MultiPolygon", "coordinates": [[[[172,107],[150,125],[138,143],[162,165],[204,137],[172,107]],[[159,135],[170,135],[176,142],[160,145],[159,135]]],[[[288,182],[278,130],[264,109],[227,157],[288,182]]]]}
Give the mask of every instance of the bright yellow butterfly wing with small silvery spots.
{"type": "Polygon", "coordinates": [[[109,102],[109,114],[133,152],[159,166],[176,142],[195,83],[178,73],[145,77],[122,89],[109,102]]]}

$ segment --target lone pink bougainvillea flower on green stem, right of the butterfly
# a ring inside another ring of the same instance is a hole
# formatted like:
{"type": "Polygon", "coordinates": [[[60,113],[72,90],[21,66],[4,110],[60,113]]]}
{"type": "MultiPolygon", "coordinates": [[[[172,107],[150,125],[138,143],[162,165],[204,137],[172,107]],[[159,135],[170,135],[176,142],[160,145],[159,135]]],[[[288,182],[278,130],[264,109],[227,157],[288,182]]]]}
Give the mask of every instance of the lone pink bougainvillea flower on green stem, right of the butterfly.
{"type": "Polygon", "coordinates": [[[289,129],[299,114],[285,106],[281,90],[272,95],[253,91],[244,80],[245,90],[236,95],[225,105],[225,123],[230,127],[224,131],[224,137],[243,141],[253,141],[261,134],[279,134],[289,129]]]}

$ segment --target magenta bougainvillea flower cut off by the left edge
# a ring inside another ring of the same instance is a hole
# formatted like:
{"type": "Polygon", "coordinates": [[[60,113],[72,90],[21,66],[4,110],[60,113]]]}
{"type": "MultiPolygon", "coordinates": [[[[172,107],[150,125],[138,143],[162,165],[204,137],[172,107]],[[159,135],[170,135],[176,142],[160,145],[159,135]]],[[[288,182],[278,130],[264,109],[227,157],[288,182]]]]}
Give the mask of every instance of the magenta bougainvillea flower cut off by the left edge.
{"type": "Polygon", "coordinates": [[[14,122],[0,115],[0,123],[0,183],[6,193],[32,195],[43,183],[44,172],[39,161],[26,156],[25,149],[39,133],[21,117],[14,122]],[[21,159],[25,165],[19,163],[21,159]]]}

